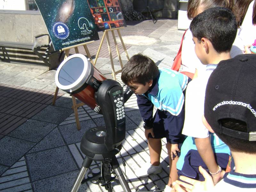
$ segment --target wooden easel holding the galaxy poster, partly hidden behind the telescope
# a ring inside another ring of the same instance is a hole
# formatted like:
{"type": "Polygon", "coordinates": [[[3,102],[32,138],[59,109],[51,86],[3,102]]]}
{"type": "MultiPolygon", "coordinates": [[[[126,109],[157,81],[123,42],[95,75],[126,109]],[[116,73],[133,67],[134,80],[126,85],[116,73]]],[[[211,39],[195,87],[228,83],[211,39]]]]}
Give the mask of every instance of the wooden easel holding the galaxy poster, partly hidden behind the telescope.
{"type": "MultiPolygon", "coordinates": [[[[85,50],[85,52],[86,52],[88,58],[90,58],[90,61],[91,61],[92,65],[94,66],[93,60],[92,60],[92,58],[91,58],[91,54],[90,54],[90,52],[89,52],[89,50],[88,50],[88,48],[87,48],[87,44],[92,43],[92,42],[94,42],[94,41],[90,41],[90,42],[86,42],[86,43],[83,43],[83,44],[78,44],[78,45],[66,47],[66,48],[61,49],[60,52],[61,52],[61,51],[65,51],[65,59],[66,59],[66,58],[69,56],[69,50],[70,50],[71,48],[75,48],[75,52],[76,52],[76,53],[79,53],[79,51],[78,51],[78,46],[83,45],[83,46],[84,46],[84,50],[85,50]]],[[[55,90],[54,97],[53,97],[53,100],[52,100],[52,105],[55,104],[55,101],[56,101],[56,99],[57,99],[58,92],[59,92],[59,87],[56,86],[56,90],[55,90]]],[[[81,129],[81,126],[80,126],[80,122],[79,122],[79,117],[78,117],[77,108],[83,106],[84,103],[81,102],[81,103],[76,104],[76,98],[75,98],[73,95],[72,95],[72,102],[73,102],[72,109],[74,110],[75,117],[76,117],[76,128],[77,128],[77,130],[80,130],[80,129],[81,129]]]]}

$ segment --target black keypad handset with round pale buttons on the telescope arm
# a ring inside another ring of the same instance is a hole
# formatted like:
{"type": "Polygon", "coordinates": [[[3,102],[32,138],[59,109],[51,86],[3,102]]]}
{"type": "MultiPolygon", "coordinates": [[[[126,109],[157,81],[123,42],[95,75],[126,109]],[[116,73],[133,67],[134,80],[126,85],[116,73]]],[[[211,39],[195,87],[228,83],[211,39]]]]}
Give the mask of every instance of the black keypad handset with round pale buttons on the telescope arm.
{"type": "Polygon", "coordinates": [[[111,90],[110,97],[114,109],[115,124],[116,127],[120,126],[125,122],[125,112],[124,112],[124,94],[120,87],[116,87],[111,90]]]}

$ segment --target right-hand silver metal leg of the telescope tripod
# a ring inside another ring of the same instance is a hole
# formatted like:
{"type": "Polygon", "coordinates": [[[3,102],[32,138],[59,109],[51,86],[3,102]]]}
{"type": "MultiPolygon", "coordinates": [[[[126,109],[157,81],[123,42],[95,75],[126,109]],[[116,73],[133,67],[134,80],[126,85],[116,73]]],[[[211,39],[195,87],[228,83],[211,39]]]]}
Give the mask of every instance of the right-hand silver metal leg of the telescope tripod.
{"type": "Polygon", "coordinates": [[[116,173],[116,176],[120,182],[120,185],[122,186],[124,192],[131,192],[131,189],[129,188],[129,185],[126,181],[126,179],[124,178],[124,174],[119,166],[119,163],[116,159],[116,156],[114,156],[112,158],[112,161],[111,161],[111,166],[113,168],[113,170],[115,171],[116,173]]]}

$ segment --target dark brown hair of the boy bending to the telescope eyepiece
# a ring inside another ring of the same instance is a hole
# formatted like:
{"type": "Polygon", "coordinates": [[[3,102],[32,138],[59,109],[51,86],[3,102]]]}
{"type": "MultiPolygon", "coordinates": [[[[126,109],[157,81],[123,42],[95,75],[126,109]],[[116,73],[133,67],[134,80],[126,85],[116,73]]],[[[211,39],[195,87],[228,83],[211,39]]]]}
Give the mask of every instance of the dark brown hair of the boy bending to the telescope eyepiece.
{"type": "Polygon", "coordinates": [[[159,70],[153,60],[149,57],[136,54],[133,55],[122,69],[121,79],[124,84],[129,82],[145,85],[159,75],[159,70]]]}

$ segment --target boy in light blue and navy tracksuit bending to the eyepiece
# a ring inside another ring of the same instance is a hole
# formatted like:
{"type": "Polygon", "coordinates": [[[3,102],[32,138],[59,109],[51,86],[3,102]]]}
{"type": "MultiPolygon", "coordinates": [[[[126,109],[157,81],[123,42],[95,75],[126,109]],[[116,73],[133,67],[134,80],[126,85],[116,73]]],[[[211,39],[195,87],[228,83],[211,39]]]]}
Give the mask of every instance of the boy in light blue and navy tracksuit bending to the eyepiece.
{"type": "Polygon", "coordinates": [[[122,70],[121,79],[136,94],[148,139],[150,164],[143,166],[138,177],[162,172],[161,139],[166,138],[170,176],[168,186],[178,179],[176,162],[184,141],[185,91],[190,78],[168,68],[158,69],[153,60],[142,54],[132,56],[122,70]],[[157,108],[153,116],[153,108],[157,108]]]}

